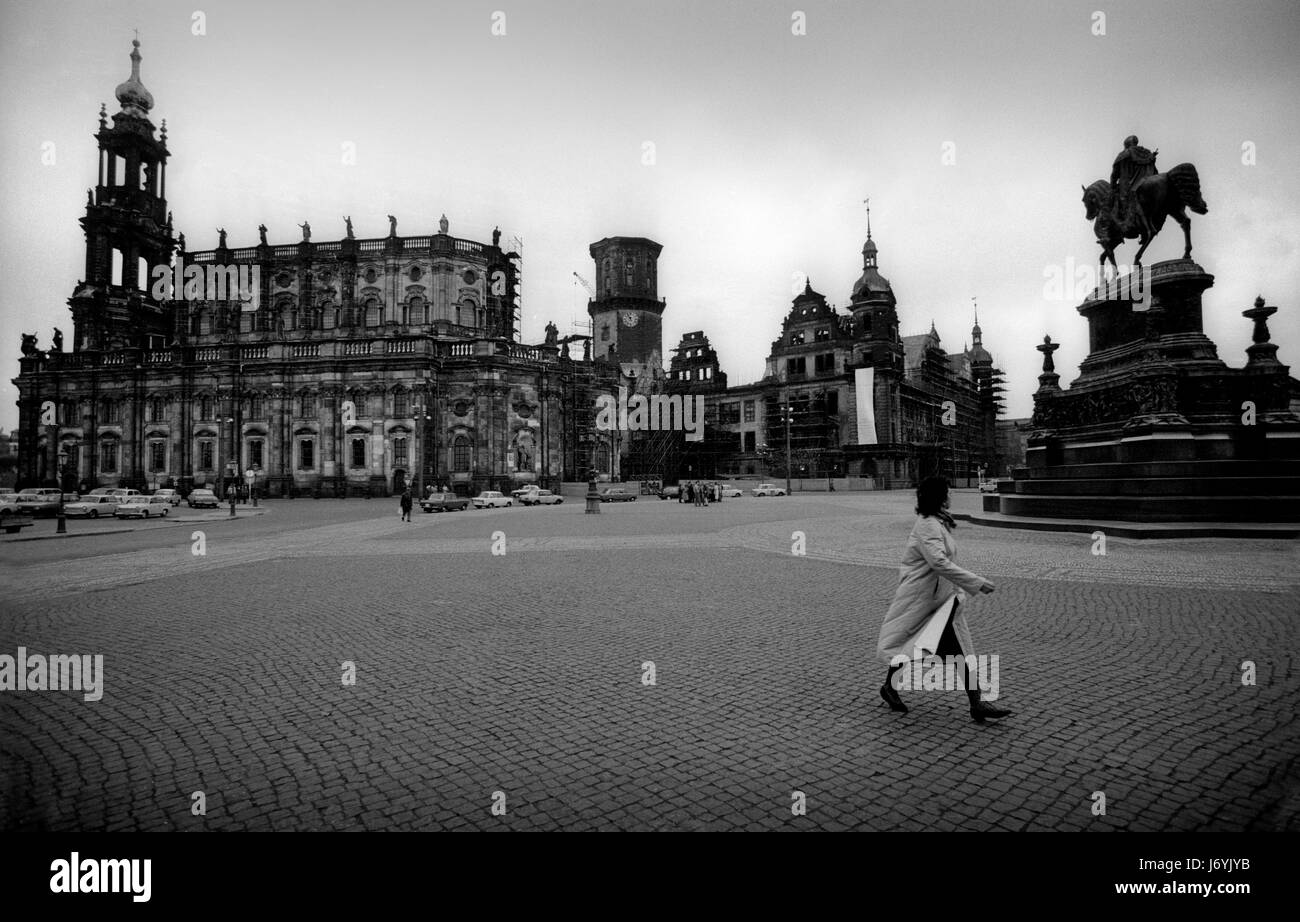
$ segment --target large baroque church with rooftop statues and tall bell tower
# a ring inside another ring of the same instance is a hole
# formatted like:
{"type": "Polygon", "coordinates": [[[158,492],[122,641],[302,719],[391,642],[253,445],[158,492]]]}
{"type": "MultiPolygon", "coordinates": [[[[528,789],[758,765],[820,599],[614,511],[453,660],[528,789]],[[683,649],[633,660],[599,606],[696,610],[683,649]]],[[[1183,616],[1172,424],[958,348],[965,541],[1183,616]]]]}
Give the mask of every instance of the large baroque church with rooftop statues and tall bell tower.
{"type": "MultiPolygon", "coordinates": [[[[260,228],[256,246],[231,248],[222,230],[216,248],[187,251],[139,42],[130,59],[120,111],[109,121],[100,109],[72,350],[60,332],[47,350],[23,337],[20,482],[224,492],[251,479],[269,495],[408,484],[472,494],[616,467],[590,408],[620,369],[594,360],[590,343],[572,359],[571,341],[586,337],[562,341],[554,325],[543,343],[517,342],[521,260],[499,231],[463,239],[443,216],[437,233],[399,235],[390,216],[386,237],[356,238],[348,218],[342,239],[315,241],[302,225],[300,241],[269,243],[260,228]],[[208,269],[231,283],[214,293],[208,269]],[[195,274],[209,285],[182,285],[195,274]]],[[[611,298],[621,241],[593,244],[608,250],[611,298]]],[[[602,316],[628,332],[606,351],[650,358],[638,343],[662,313],[653,270],[630,257],[620,267],[618,308],[602,316]]]]}

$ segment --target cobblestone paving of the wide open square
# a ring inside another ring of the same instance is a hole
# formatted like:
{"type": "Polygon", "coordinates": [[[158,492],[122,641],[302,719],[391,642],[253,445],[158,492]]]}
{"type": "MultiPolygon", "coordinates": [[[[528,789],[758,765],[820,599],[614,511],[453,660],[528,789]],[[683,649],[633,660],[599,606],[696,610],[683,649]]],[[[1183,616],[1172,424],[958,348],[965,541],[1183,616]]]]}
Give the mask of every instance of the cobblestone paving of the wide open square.
{"type": "Polygon", "coordinates": [[[1015,711],[978,726],[961,691],[905,692],[906,715],[876,691],[909,506],[292,527],[280,503],[213,525],[204,557],[202,524],[72,563],[6,546],[0,653],[103,654],[105,681],[96,702],[0,693],[0,828],[1300,830],[1300,542],[1102,557],[962,524],[961,562],[997,584],[972,632],[1015,711]]]}

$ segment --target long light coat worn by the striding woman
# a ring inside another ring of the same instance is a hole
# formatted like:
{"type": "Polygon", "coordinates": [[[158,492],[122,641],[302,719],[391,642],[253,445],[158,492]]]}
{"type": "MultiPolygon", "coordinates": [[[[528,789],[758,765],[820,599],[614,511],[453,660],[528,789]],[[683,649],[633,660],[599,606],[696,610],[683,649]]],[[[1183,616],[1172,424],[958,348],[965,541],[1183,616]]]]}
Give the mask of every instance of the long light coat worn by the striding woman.
{"type": "MultiPolygon", "coordinates": [[[[982,576],[962,570],[956,559],[957,544],[942,523],[935,516],[918,516],[898,568],[898,590],[880,626],[876,645],[880,659],[887,663],[897,655],[911,659],[916,653],[916,640],[935,609],[958,593],[958,602],[962,602],[966,593],[976,593],[984,585],[982,576]]],[[[975,644],[966,624],[965,607],[957,606],[953,632],[962,653],[967,654],[975,652],[975,644]]]]}

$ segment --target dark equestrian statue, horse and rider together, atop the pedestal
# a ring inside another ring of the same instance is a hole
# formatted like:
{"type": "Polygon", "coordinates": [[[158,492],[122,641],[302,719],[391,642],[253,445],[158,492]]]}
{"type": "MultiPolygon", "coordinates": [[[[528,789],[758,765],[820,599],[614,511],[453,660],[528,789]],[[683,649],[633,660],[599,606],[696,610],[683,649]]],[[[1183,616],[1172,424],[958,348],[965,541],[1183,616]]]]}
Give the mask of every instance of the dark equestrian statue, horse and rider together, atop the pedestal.
{"type": "Polygon", "coordinates": [[[1106,260],[1115,273],[1119,272],[1115,247],[1124,241],[1140,242],[1134,265],[1141,265],[1141,255],[1169,217],[1183,229],[1183,259],[1192,257],[1192,221],[1183,209],[1191,208],[1196,215],[1208,212],[1201,198],[1201,179],[1192,164],[1178,164],[1167,173],[1157,173],[1157,153],[1141,147],[1136,135],[1128,135],[1112,165],[1110,181],[1097,179],[1083,186],[1084,216],[1093,222],[1101,246],[1102,273],[1106,260]]]}

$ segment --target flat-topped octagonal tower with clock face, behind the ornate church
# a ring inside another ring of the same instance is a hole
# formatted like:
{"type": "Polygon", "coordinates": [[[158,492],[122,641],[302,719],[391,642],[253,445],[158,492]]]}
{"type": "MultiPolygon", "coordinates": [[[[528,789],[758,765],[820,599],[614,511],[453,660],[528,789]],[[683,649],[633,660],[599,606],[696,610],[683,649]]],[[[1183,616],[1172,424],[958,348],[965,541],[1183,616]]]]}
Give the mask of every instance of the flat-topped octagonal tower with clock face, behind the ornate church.
{"type": "Polygon", "coordinates": [[[606,237],[590,246],[595,298],[588,302],[592,355],[637,365],[640,376],[663,371],[663,310],[658,260],[662,246],[645,237],[606,237]]]}

